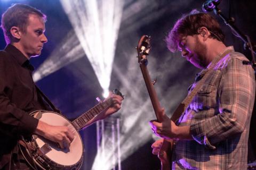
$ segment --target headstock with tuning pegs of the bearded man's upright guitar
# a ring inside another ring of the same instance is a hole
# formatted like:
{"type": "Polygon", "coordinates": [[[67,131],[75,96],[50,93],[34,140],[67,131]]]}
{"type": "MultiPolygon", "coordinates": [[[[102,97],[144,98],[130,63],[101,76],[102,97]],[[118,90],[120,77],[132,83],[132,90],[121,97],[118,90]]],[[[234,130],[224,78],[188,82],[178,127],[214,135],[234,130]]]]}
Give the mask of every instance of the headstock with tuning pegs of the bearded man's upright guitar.
{"type": "Polygon", "coordinates": [[[137,45],[138,62],[147,65],[147,55],[150,50],[150,36],[143,35],[137,45]]]}

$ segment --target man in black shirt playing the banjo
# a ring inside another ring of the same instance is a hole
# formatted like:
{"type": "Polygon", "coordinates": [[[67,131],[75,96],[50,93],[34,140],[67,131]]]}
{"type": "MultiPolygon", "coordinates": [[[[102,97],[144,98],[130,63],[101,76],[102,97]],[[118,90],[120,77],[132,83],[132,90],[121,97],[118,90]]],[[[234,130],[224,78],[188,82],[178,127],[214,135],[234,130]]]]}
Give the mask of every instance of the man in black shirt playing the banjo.
{"type": "MultiPolygon", "coordinates": [[[[53,126],[29,113],[52,111],[32,78],[29,58],[41,54],[46,15],[36,8],[14,4],[2,15],[1,27],[7,46],[0,52],[0,169],[31,169],[17,148],[20,136],[40,135],[69,148],[74,135],[67,126],[53,126]]],[[[111,95],[113,105],[85,126],[117,112],[123,98],[111,95]]]]}

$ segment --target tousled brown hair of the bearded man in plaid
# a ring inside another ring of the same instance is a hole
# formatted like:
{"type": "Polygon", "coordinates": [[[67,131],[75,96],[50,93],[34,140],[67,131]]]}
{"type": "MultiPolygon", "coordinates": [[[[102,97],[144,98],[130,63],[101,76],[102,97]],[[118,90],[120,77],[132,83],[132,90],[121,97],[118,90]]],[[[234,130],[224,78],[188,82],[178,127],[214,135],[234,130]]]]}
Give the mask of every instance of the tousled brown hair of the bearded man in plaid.
{"type": "Polygon", "coordinates": [[[180,38],[199,34],[198,28],[200,27],[206,27],[211,32],[211,38],[224,41],[225,35],[220,29],[218,21],[210,14],[193,10],[189,14],[183,15],[167,35],[165,40],[169,50],[177,51],[180,38]]]}

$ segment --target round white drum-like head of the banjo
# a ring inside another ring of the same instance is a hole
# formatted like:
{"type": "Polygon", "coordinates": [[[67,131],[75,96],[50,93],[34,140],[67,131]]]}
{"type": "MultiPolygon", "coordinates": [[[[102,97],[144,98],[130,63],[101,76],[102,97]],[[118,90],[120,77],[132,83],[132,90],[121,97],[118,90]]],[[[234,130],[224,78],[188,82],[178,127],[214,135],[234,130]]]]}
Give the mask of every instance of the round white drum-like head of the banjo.
{"type": "Polygon", "coordinates": [[[40,121],[55,126],[68,126],[69,130],[73,132],[75,138],[70,143],[69,149],[61,149],[57,143],[47,140],[41,136],[33,135],[40,152],[42,152],[47,159],[50,159],[50,162],[54,162],[58,166],[74,166],[82,162],[84,150],[83,142],[80,134],[77,132],[73,124],[71,124],[67,118],[58,113],[50,111],[41,113],[42,117],[39,118],[40,121]]]}

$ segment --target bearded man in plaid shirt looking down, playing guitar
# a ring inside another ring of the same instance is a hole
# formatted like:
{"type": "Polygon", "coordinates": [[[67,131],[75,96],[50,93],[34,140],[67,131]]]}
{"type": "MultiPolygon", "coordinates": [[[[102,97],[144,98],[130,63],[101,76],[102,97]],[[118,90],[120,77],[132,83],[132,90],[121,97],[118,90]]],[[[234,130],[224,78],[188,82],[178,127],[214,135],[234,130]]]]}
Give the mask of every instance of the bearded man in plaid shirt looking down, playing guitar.
{"type": "MultiPolygon", "coordinates": [[[[255,79],[247,58],[223,44],[225,36],[216,19],[206,13],[183,15],[166,38],[167,47],[181,51],[202,69],[190,92],[203,84],[177,122],[162,110],[163,121],[150,121],[161,140],[153,143],[159,153],[163,139],[173,139],[172,169],[246,169],[247,142],[254,104],[255,79]]],[[[164,150],[162,152],[167,152],[164,150]]]]}

